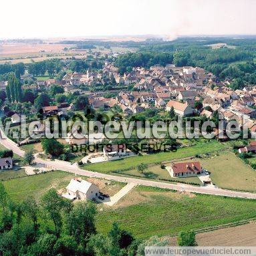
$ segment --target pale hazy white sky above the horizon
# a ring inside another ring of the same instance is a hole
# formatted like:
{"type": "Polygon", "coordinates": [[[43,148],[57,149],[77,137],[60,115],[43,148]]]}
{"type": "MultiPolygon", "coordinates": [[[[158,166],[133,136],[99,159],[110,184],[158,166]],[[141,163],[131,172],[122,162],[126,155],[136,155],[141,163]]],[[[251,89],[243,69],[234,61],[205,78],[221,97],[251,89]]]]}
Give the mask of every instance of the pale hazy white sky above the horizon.
{"type": "Polygon", "coordinates": [[[1,0],[0,38],[256,34],[255,0],[1,0]]]}

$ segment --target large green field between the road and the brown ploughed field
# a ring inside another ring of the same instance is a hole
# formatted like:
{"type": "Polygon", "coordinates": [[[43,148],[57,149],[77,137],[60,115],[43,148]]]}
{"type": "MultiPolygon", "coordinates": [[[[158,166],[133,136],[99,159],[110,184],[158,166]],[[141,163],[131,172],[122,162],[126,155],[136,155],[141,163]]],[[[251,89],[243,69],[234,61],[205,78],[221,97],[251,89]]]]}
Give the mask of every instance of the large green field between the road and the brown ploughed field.
{"type": "Polygon", "coordinates": [[[209,195],[182,195],[139,186],[114,209],[98,213],[97,229],[107,233],[114,221],[136,237],[169,235],[256,217],[256,201],[209,195]]]}

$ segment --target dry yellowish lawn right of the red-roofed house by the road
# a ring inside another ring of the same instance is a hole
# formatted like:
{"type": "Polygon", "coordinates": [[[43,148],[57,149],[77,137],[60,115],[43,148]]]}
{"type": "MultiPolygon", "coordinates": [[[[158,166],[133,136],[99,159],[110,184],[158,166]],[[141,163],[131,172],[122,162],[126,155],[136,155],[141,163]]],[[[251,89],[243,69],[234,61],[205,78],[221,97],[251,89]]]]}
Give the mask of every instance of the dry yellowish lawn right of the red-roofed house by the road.
{"type": "Polygon", "coordinates": [[[202,164],[211,172],[211,179],[217,186],[256,192],[256,171],[232,152],[223,152],[203,160],[202,164]]]}

